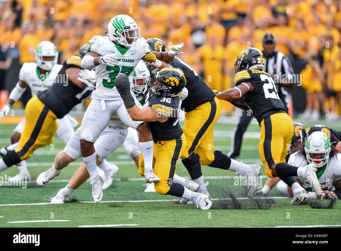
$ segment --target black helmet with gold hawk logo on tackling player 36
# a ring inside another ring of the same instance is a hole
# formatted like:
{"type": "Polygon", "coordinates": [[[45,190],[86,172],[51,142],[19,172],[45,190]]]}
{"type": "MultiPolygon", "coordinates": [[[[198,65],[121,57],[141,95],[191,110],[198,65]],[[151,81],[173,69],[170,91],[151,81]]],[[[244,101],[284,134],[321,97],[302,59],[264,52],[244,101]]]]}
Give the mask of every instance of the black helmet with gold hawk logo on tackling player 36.
{"type": "Polygon", "coordinates": [[[155,72],[148,83],[149,92],[162,97],[175,97],[186,86],[186,78],[176,68],[163,68],[155,72]]]}

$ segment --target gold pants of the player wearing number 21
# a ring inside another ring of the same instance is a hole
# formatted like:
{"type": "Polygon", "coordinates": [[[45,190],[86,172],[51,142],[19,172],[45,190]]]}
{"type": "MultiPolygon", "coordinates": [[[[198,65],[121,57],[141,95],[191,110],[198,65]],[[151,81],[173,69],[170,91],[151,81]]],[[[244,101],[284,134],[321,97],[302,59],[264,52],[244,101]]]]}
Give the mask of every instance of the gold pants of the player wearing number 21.
{"type": "Polygon", "coordinates": [[[285,112],[272,114],[262,120],[258,150],[268,177],[274,178],[271,174],[273,165],[285,162],[293,134],[293,121],[285,112]]]}

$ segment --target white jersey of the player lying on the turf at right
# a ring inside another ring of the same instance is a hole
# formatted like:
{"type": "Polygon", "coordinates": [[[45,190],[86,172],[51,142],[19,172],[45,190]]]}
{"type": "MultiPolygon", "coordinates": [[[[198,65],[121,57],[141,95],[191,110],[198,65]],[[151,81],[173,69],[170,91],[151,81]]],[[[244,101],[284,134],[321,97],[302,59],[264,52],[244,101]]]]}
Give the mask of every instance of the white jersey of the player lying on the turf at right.
{"type": "MultiPolygon", "coordinates": [[[[296,152],[290,155],[288,164],[297,167],[304,167],[309,163],[307,162],[305,154],[303,155],[296,152]]],[[[341,179],[341,153],[337,153],[329,159],[327,165],[319,173],[317,173],[317,178],[318,181],[320,181],[321,186],[328,187],[329,191],[335,190],[333,182],[341,179]]],[[[303,180],[302,178],[299,179],[302,181],[302,187],[310,190],[309,188],[312,187],[310,182],[303,180]]]]}

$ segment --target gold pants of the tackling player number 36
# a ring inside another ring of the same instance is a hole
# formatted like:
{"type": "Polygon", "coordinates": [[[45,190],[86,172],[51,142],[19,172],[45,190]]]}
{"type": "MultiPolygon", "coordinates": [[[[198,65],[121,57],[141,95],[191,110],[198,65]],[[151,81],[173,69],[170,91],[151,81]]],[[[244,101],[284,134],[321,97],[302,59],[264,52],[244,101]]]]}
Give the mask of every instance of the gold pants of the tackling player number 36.
{"type": "MultiPolygon", "coordinates": [[[[160,183],[155,183],[154,187],[159,194],[166,194],[169,191],[169,184],[172,184],[176,164],[185,147],[186,138],[184,134],[177,139],[154,142],[153,168],[155,175],[161,179],[160,183]]],[[[144,176],[145,165],[142,154],[138,165],[138,172],[144,176]]]]}

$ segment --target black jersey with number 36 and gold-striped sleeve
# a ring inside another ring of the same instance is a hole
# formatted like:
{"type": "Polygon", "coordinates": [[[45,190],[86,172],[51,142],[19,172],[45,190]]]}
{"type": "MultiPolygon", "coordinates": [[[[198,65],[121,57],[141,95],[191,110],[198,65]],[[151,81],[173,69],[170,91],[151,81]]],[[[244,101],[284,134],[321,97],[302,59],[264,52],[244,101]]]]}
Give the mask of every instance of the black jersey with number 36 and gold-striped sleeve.
{"type": "Polygon", "coordinates": [[[179,123],[181,93],[176,97],[161,97],[150,94],[146,106],[149,106],[160,117],[169,117],[166,122],[149,122],[154,142],[172,140],[181,137],[183,130],[179,123]]]}

